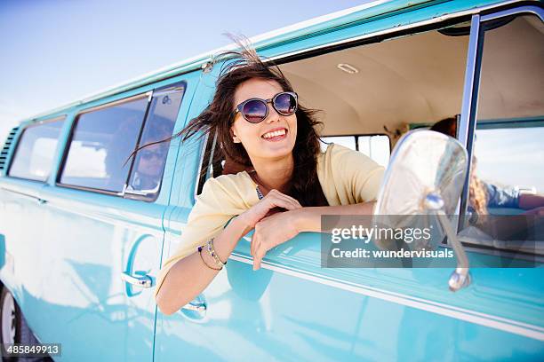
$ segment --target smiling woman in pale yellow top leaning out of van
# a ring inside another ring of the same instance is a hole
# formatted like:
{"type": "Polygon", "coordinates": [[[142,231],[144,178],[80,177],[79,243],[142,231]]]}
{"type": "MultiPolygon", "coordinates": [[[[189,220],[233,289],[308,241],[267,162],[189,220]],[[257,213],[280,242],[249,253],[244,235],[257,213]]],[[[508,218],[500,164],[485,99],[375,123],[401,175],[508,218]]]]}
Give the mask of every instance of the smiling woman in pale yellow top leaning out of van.
{"type": "Polygon", "coordinates": [[[244,170],[209,178],[196,197],[180,246],[156,280],[165,314],[199,295],[247,232],[254,229],[257,270],[271,248],[320,232],[322,215],[372,215],[380,188],[384,169],[363,153],[334,144],[321,152],[316,111],[300,105],[278,67],[240,45],[225,54],[210,105],[173,136],[216,134],[216,149],[244,170]]]}

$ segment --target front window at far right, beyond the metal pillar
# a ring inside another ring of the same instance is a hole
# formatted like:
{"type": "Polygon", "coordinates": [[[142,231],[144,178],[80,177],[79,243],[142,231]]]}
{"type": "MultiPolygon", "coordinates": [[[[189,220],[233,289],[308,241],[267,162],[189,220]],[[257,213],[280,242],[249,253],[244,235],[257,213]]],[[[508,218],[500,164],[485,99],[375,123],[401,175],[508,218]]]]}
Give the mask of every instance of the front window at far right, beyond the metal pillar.
{"type": "MultiPolygon", "coordinates": [[[[527,240],[537,230],[528,219],[500,223],[495,216],[544,210],[544,25],[534,15],[499,21],[483,27],[470,221],[463,232],[464,241],[508,249],[503,241],[527,240]]],[[[544,253],[535,243],[525,242],[523,248],[544,253]]]]}

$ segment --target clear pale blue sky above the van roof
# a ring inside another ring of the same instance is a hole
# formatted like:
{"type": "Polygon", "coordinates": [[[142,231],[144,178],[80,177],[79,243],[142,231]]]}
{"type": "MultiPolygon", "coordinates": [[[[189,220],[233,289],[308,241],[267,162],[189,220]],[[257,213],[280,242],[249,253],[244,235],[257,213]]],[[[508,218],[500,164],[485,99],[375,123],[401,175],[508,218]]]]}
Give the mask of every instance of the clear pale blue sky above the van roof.
{"type": "Polygon", "coordinates": [[[365,0],[0,0],[0,145],[21,118],[365,0]]]}

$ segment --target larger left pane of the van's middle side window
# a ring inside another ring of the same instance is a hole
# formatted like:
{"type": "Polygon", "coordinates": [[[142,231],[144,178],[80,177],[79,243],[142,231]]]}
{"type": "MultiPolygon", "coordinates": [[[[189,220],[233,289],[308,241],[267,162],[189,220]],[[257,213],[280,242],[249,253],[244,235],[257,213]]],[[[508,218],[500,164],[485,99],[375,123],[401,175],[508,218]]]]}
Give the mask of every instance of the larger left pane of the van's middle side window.
{"type": "Polygon", "coordinates": [[[147,106],[139,98],[79,115],[60,183],[121,192],[147,106]]]}

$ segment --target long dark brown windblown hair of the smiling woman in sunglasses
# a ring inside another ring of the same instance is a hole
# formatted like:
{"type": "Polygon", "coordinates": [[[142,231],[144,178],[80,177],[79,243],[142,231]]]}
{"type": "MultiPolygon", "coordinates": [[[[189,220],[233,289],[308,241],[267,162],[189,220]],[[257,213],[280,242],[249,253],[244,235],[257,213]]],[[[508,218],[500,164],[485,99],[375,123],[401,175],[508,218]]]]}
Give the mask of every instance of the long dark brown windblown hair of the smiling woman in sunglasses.
{"type": "MultiPolygon", "coordinates": [[[[237,87],[245,81],[258,78],[275,81],[284,91],[293,91],[293,89],[279,67],[272,62],[265,64],[251,46],[236,38],[232,39],[238,44],[240,50],[225,51],[216,58],[226,61],[220,69],[212,102],[172,138],[183,136],[182,140],[186,141],[196,134],[200,134],[200,137],[206,134],[212,137],[216,135],[219,147],[215,147],[213,161],[227,159],[236,162],[242,169],[247,169],[252,167],[252,161],[244,146],[234,143],[230,132],[235,120],[234,97],[237,87]],[[217,152],[218,148],[219,152],[217,152]]],[[[323,191],[316,171],[317,155],[320,152],[320,139],[316,126],[322,125],[322,122],[316,121],[317,112],[319,111],[300,106],[300,103],[296,111],[297,138],[292,150],[294,169],[290,195],[302,206],[324,204],[323,191]]],[[[205,171],[203,169],[203,172],[205,171]]]]}

